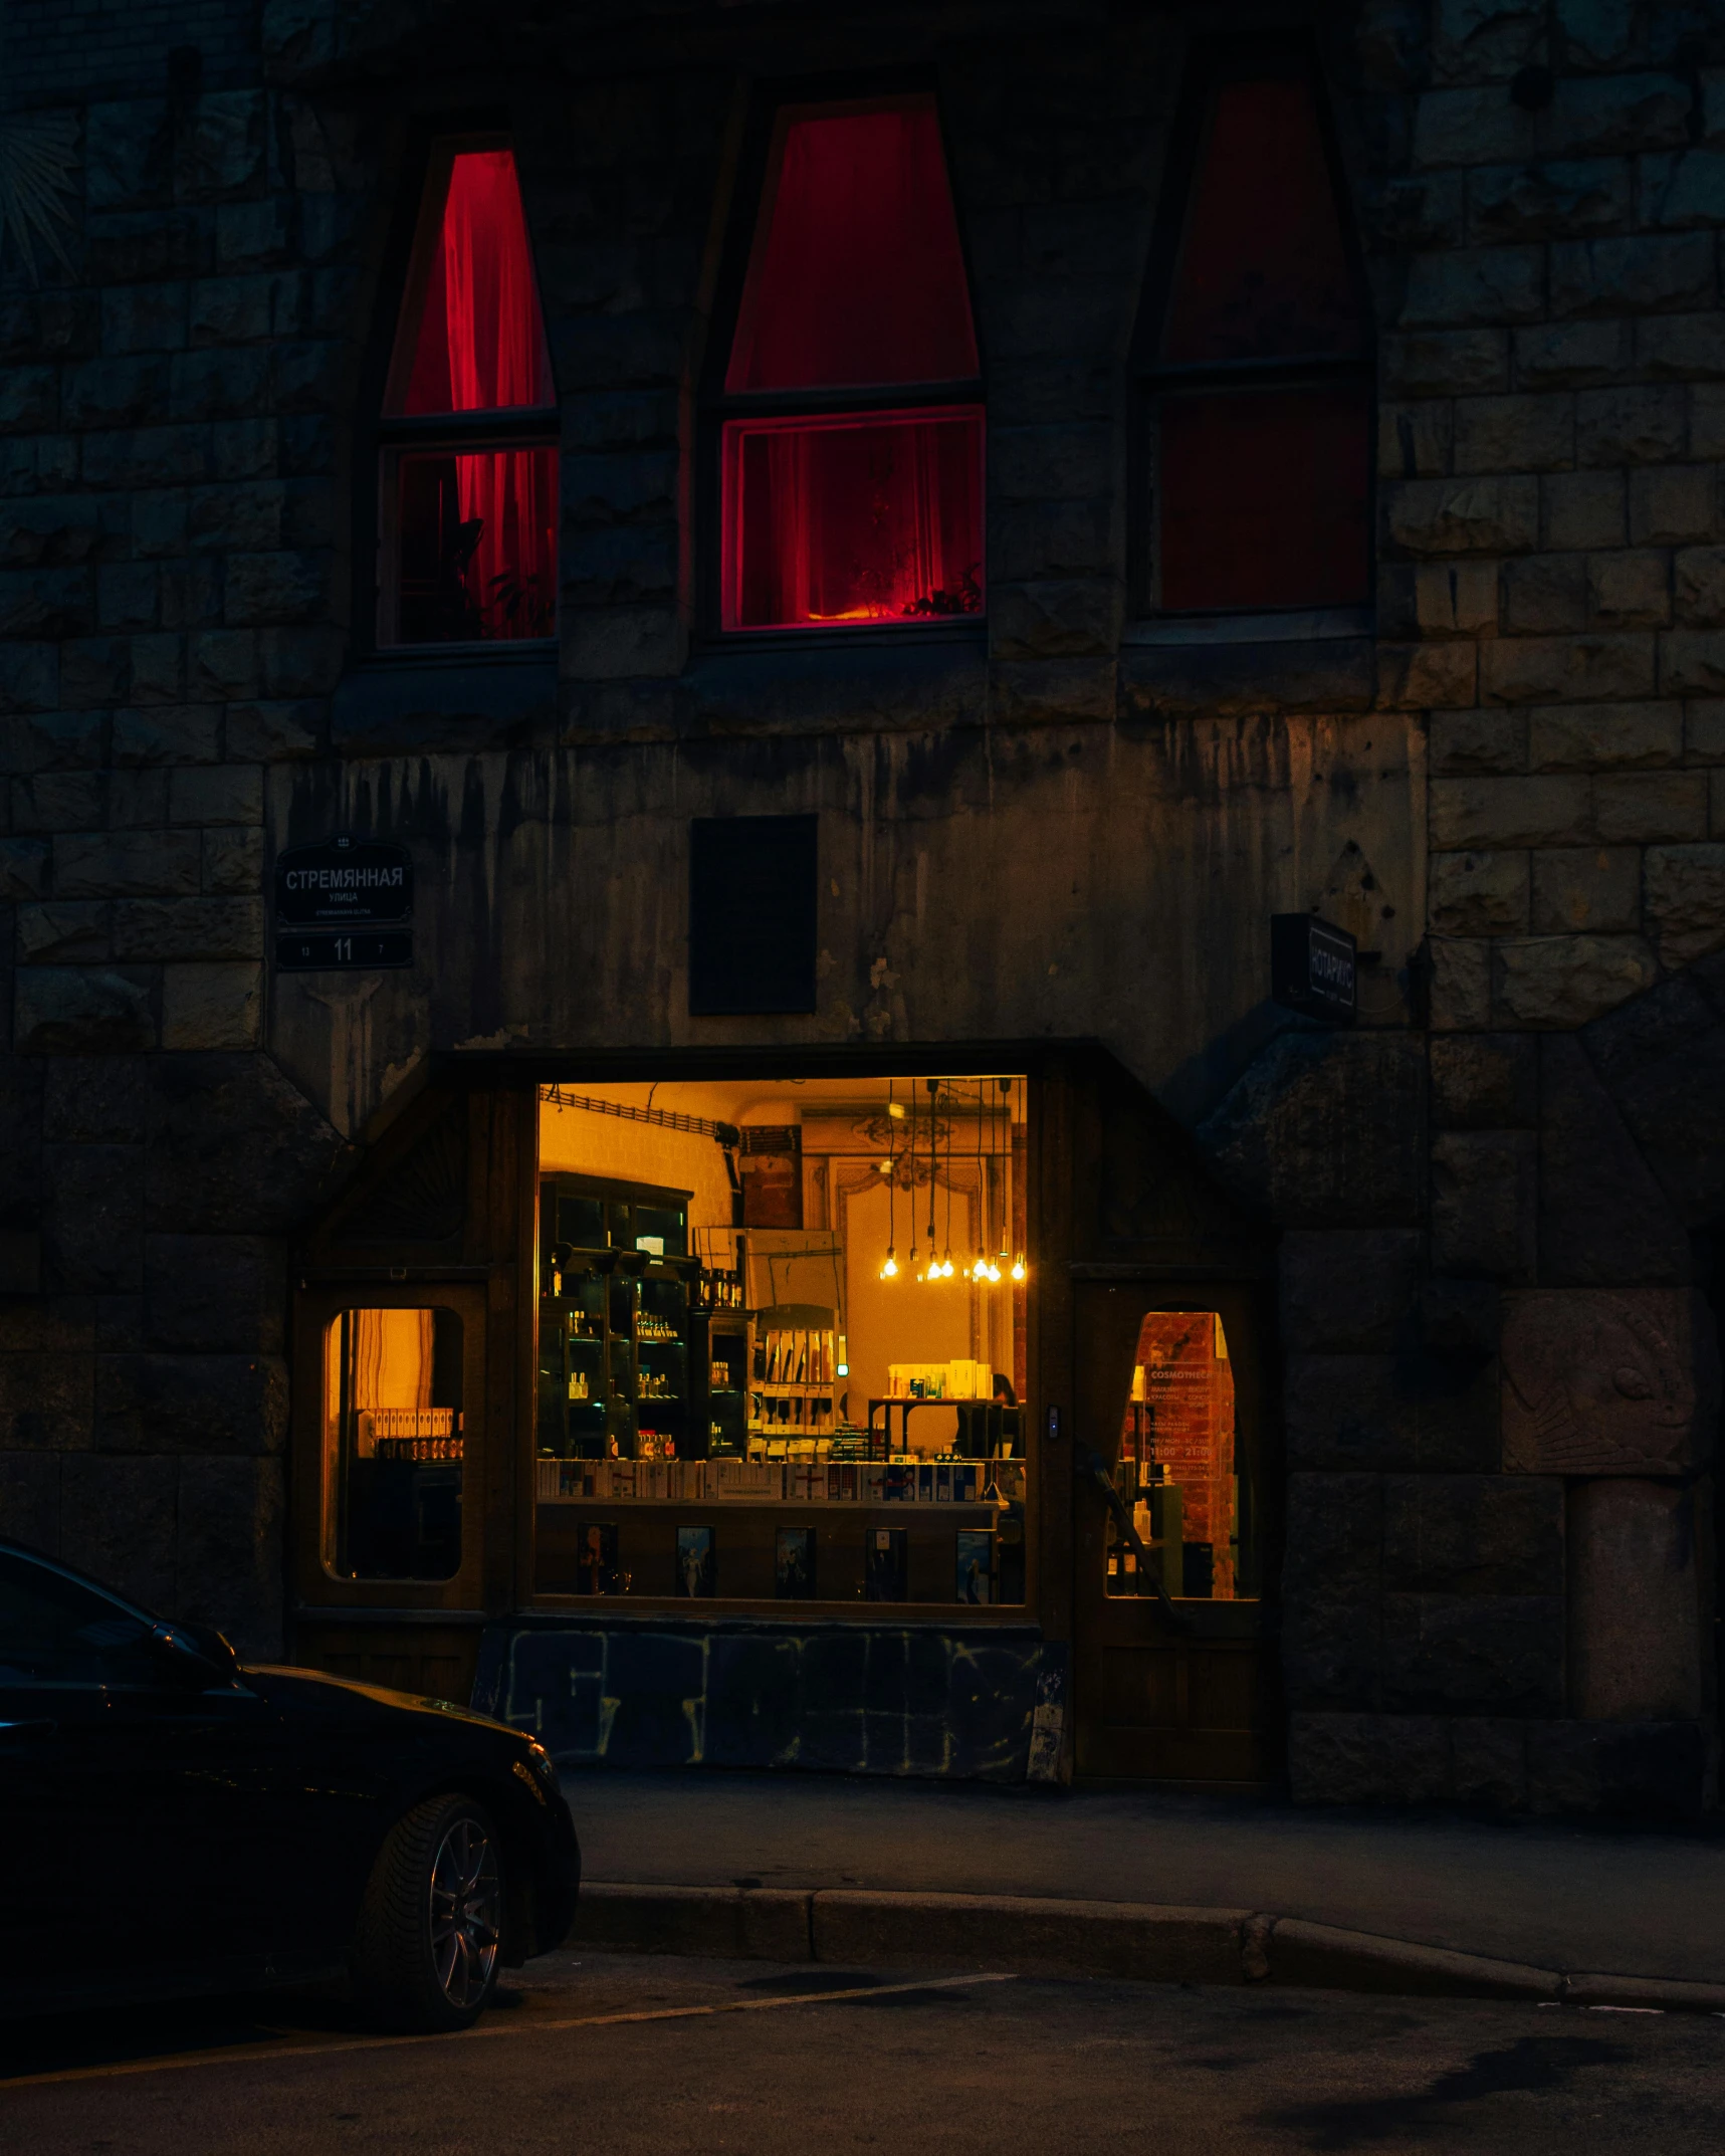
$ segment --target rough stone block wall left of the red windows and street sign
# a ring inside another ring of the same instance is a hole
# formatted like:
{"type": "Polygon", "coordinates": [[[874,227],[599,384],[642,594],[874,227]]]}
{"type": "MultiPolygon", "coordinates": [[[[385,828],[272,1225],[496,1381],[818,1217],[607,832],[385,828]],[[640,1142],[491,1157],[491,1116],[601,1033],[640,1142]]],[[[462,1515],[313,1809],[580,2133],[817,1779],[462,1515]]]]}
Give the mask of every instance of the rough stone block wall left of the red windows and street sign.
{"type": "Polygon", "coordinates": [[[272,1651],[285,1233],[339,1141],[259,1054],[263,765],[332,679],[330,347],[254,24],[114,22],[6,32],[13,91],[95,101],[73,280],[0,282],[0,1520],[272,1651]]]}

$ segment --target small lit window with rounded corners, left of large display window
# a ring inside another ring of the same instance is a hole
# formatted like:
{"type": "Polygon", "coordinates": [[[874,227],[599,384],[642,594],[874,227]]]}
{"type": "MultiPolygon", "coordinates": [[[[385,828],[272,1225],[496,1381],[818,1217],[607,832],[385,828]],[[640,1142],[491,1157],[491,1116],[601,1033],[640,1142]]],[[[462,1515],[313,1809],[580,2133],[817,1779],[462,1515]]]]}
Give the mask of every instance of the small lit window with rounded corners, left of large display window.
{"type": "Polygon", "coordinates": [[[461,1570],[461,1319],[351,1309],[323,1335],[323,1563],[339,1580],[461,1570]]]}

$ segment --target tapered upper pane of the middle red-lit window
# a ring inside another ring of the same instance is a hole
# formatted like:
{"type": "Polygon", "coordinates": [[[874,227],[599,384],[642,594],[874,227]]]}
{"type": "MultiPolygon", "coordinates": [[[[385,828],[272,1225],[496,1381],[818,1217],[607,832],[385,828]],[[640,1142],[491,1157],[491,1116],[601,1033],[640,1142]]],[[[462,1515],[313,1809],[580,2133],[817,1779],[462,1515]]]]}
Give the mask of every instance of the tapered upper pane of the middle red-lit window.
{"type": "Polygon", "coordinates": [[[934,101],[787,114],[727,390],[975,373],[977,334],[934,101]]]}

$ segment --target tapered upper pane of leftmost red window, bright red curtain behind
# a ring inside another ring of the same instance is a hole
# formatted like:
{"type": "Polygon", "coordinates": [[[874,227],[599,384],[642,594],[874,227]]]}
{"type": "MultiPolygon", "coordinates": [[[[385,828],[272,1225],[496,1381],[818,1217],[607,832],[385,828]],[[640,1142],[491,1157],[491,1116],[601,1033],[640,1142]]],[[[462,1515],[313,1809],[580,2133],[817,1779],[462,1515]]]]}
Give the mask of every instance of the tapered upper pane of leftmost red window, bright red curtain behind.
{"type": "Polygon", "coordinates": [[[507,149],[464,151],[451,164],[423,278],[403,308],[390,412],[494,412],[554,401],[522,190],[507,149]],[[418,321],[410,319],[414,298],[418,321]]]}

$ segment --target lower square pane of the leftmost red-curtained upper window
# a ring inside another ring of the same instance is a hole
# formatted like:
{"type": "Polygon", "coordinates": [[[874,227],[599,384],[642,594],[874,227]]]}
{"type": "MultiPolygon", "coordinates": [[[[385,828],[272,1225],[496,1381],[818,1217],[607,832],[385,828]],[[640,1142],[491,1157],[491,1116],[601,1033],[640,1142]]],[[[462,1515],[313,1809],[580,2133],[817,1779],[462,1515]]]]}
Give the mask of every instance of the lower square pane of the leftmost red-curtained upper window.
{"type": "Polygon", "coordinates": [[[397,642],[556,630],[556,451],[405,455],[397,642]]]}

